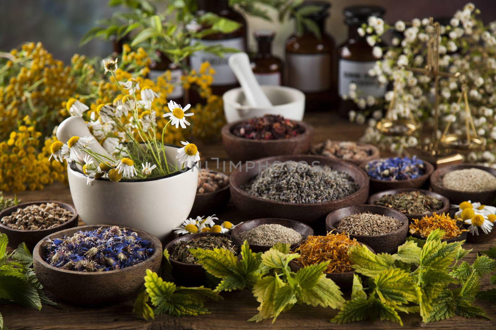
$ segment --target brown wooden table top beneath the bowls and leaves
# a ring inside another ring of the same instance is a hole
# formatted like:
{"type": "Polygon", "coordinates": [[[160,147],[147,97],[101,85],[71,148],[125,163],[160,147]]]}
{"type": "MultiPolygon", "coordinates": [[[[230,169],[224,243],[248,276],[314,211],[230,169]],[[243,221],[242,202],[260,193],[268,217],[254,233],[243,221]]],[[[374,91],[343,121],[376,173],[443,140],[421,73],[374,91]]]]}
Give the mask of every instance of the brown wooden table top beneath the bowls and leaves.
{"type": "MultiPolygon", "coordinates": [[[[352,140],[359,139],[364,132],[365,127],[350,124],[346,120],[337,116],[330,116],[328,113],[308,113],[305,120],[313,125],[315,129],[314,142],[324,141],[325,139],[333,140],[352,140]]],[[[202,159],[219,157],[220,160],[228,160],[228,157],[222,147],[222,144],[202,145],[199,147],[202,152],[202,159]]],[[[387,152],[383,155],[388,155],[387,152]]],[[[72,204],[72,198],[69,188],[61,183],[55,183],[45,187],[42,191],[24,191],[17,194],[24,202],[49,199],[59,200],[72,204]]],[[[6,196],[13,196],[6,193],[6,196]]],[[[229,204],[225,211],[218,214],[221,220],[230,220],[233,223],[249,220],[239,214],[233,205],[229,204]]],[[[84,220],[84,219],[82,219],[84,220]]],[[[80,219],[80,225],[83,222],[80,219]]],[[[485,244],[464,244],[464,248],[474,250],[468,254],[464,260],[473,262],[477,256],[477,251],[487,250],[493,243],[485,244]]],[[[482,289],[496,287],[489,284],[489,277],[482,281],[482,289]]],[[[95,292],[97,295],[98,292],[95,292]]],[[[64,303],[58,306],[44,305],[41,311],[22,307],[15,304],[0,305],[0,311],[3,315],[4,324],[10,330],[86,330],[86,329],[105,329],[105,330],[158,330],[158,329],[298,329],[298,330],[317,330],[317,329],[416,329],[419,327],[426,329],[464,329],[474,327],[476,329],[496,329],[496,306],[486,302],[477,302],[476,305],[486,309],[488,316],[493,320],[482,318],[466,319],[456,316],[454,318],[423,324],[418,314],[402,314],[403,327],[388,322],[376,321],[355,322],[351,324],[337,325],[330,323],[329,320],[337,314],[337,310],[330,308],[311,307],[307,305],[294,306],[289,312],[282,313],[277,321],[272,324],[266,320],[258,324],[247,322],[249,318],[257,313],[258,303],[249,291],[243,292],[222,292],[224,300],[207,301],[205,306],[211,314],[198,317],[175,318],[168,315],[156,316],[155,320],[145,321],[137,318],[132,313],[134,301],[127,301],[119,305],[105,308],[80,308],[73,307],[64,303]]]]}

